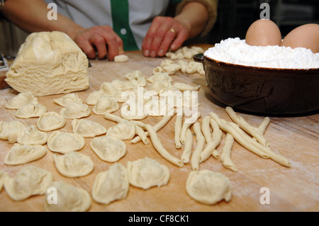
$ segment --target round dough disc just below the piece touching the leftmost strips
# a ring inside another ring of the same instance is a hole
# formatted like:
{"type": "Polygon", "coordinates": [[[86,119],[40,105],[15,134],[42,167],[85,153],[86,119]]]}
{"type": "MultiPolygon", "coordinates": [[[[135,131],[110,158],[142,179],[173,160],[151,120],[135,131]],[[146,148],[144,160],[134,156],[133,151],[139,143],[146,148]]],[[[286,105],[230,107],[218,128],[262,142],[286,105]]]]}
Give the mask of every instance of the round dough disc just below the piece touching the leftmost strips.
{"type": "Polygon", "coordinates": [[[113,137],[94,137],[90,146],[95,154],[106,162],[116,162],[126,154],[125,142],[113,137]]]}

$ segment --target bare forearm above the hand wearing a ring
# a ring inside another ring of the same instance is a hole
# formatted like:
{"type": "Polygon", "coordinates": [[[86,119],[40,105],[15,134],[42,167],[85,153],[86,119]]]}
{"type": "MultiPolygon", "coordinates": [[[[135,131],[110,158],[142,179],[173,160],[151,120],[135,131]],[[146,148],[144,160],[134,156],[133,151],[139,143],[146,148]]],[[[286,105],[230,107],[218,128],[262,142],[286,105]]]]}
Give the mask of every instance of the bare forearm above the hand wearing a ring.
{"type": "Polygon", "coordinates": [[[200,34],[206,27],[208,11],[206,7],[199,2],[189,2],[174,19],[189,28],[191,31],[189,38],[193,38],[200,34]]]}

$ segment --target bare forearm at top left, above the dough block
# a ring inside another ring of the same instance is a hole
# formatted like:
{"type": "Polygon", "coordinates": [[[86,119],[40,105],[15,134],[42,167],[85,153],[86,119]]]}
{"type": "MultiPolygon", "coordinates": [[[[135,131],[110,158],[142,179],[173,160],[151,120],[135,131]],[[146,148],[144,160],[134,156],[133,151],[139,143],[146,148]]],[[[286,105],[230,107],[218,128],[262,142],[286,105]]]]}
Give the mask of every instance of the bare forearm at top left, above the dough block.
{"type": "Polygon", "coordinates": [[[6,0],[1,13],[12,23],[28,33],[60,30],[72,36],[75,30],[83,29],[69,18],[57,14],[57,20],[49,20],[47,4],[43,0],[6,0]]]}

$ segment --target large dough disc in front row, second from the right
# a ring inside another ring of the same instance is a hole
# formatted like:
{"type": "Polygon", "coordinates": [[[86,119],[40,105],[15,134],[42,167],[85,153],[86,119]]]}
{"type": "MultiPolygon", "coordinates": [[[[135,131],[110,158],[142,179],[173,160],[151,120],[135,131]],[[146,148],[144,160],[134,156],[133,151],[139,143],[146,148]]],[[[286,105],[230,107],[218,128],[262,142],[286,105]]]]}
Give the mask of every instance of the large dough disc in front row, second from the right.
{"type": "Polygon", "coordinates": [[[155,159],[138,159],[127,163],[130,184],[144,190],[153,186],[164,186],[170,178],[169,168],[155,159]]]}

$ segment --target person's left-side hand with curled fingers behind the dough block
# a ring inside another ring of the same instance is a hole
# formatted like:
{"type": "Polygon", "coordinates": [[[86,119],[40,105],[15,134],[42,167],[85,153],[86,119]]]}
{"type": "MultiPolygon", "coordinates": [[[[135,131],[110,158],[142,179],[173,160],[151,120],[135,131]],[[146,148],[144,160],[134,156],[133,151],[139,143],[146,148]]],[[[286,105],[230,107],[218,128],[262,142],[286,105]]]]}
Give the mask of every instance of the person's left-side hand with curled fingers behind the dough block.
{"type": "Polygon", "coordinates": [[[116,55],[124,53],[123,41],[110,26],[94,26],[77,30],[71,36],[87,57],[114,60],[116,55]],[[97,51],[97,55],[96,55],[97,51]]]}

